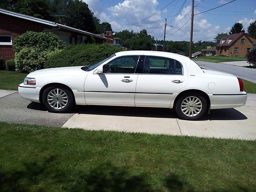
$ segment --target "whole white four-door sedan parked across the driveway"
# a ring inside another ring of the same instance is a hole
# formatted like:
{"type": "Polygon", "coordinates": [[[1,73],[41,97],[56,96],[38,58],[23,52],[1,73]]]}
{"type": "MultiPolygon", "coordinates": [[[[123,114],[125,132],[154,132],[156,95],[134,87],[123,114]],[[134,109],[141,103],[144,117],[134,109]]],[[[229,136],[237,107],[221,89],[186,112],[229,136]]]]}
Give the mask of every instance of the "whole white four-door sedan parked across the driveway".
{"type": "Polygon", "coordinates": [[[18,92],[50,112],[68,112],[75,104],[142,106],[174,108],[187,120],[247,100],[240,78],[156,51],[123,51],[92,66],[38,70],[27,75],[18,92]]]}

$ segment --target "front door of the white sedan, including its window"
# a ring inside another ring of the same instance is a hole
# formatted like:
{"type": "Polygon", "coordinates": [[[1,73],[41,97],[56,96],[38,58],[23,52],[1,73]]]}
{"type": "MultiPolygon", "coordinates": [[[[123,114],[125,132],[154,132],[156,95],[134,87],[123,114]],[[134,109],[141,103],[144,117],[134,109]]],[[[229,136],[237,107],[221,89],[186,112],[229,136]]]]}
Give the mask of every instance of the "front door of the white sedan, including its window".
{"type": "Polygon", "coordinates": [[[84,84],[86,104],[135,106],[138,55],[117,57],[103,66],[103,74],[90,73],[84,84]]]}

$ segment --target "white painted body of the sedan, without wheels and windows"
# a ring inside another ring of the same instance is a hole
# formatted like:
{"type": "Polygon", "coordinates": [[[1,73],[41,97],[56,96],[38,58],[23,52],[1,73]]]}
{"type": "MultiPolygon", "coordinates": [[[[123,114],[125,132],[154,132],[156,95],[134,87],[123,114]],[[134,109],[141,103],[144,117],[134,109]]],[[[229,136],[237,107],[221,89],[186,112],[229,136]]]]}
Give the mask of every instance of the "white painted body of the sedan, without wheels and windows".
{"type": "Polygon", "coordinates": [[[53,68],[32,72],[27,77],[35,78],[36,85],[21,83],[18,92],[22,98],[33,102],[41,102],[42,90],[52,83],[70,88],[77,105],[173,108],[177,96],[188,90],[207,95],[209,109],[235,108],[244,105],[247,100],[246,92],[240,91],[237,77],[202,70],[188,57],[167,52],[123,51],[92,71],[84,71],[81,66],[53,68]],[[174,59],[181,63],[182,74],[98,73],[106,63],[127,55],[144,59],[144,56],[174,59]]]}

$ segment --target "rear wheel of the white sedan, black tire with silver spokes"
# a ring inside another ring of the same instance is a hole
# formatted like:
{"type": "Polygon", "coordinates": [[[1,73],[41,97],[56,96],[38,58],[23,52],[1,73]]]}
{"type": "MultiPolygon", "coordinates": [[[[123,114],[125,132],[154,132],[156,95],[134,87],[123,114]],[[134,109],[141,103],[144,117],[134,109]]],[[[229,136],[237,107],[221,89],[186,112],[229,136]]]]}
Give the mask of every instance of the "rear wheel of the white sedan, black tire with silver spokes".
{"type": "Polygon", "coordinates": [[[207,111],[207,100],[200,93],[191,92],[183,94],[175,104],[175,111],[181,119],[198,120],[202,118],[207,111]],[[194,102],[192,102],[193,99],[194,102]]]}

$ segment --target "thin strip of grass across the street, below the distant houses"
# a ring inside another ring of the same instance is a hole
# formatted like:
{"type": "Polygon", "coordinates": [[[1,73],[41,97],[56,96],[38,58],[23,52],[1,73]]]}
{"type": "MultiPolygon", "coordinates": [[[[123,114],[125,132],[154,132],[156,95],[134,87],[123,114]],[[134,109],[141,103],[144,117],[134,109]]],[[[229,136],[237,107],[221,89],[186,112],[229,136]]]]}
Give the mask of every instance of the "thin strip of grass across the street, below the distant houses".
{"type": "Polygon", "coordinates": [[[227,62],[227,61],[244,61],[244,60],[247,60],[247,57],[203,56],[203,57],[193,58],[193,60],[207,61],[207,62],[227,62]]]}

